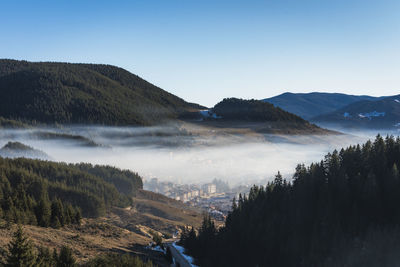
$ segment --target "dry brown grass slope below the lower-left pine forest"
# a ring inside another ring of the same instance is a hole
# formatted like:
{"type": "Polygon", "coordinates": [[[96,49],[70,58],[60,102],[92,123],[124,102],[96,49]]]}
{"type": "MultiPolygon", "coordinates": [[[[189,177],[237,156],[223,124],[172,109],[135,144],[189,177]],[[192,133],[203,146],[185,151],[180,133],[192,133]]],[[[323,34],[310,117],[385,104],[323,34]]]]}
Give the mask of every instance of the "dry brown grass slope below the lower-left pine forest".
{"type": "MultiPolygon", "coordinates": [[[[24,225],[24,231],[35,246],[60,249],[72,248],[79,263],[100,253],[132,253],[164,266],[160,252],[145,249],[151,240],[151,231],[172,234],[186,225],[198,226],[202,216],[191,207],[160,194],[140,191],[128,209],[113,208],[106,217],[83,219],[81,225],[60,229],[24,225]]],[[[0,227],[0,257],[4,257],[7,244],[16,225],[0,227]]]]}

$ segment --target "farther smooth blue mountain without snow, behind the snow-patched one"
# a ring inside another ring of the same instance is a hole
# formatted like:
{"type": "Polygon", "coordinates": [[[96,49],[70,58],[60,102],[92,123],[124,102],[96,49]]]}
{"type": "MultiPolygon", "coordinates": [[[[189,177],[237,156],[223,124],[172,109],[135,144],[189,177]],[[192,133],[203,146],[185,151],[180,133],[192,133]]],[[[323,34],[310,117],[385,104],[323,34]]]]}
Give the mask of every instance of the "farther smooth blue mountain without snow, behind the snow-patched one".
{"type": "Polygon", "coordinates": [[[372,96],[356,96],[338,93],[284,93],[263,101],[271,103],[304,119],[333,112],[361,100],[378,100],[372,96]]]}

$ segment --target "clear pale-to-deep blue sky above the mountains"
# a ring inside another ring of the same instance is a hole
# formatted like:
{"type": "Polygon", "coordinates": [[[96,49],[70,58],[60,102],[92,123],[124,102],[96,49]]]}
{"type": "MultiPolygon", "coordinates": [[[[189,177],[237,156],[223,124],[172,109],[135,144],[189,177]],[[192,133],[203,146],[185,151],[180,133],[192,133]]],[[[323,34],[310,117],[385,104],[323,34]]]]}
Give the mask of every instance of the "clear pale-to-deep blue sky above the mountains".
{"type": "Polygon", "coordinates": [[[400,93],[398,0],[1,1],[0,58],[107,63],[192,102],[400,93]]]}

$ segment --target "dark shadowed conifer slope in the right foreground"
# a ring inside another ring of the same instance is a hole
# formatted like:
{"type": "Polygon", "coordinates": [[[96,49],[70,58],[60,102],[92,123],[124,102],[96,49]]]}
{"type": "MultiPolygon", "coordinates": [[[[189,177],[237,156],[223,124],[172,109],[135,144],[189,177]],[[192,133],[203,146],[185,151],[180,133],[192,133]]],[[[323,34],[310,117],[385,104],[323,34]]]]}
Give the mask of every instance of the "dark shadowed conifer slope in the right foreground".
{"type": "Polygon", "coordinates": [[[182,243],[200,266],[397,266],[399,164],[400,138],[334,151],[254,186],[224,227],[206,218],[182,243]]]}

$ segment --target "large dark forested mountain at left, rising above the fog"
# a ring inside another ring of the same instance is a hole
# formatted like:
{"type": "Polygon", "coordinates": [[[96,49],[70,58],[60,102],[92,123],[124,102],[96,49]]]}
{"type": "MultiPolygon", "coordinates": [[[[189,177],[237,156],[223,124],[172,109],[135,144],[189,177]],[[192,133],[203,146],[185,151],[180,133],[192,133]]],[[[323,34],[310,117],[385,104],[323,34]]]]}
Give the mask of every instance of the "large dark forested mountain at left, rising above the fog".
{"type": "Polygon", "coordinates": [[[199,108],[115,66],[0,60],[4,119],[153,125],[199,108]]]}

